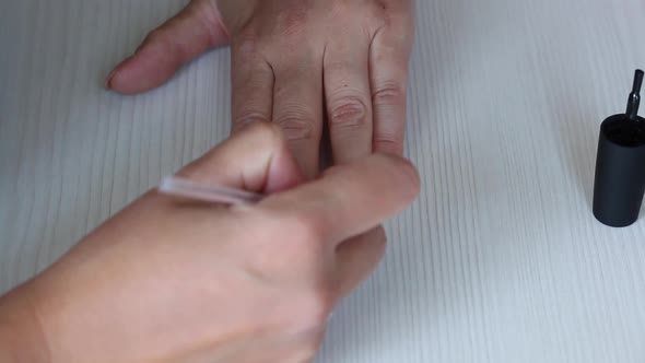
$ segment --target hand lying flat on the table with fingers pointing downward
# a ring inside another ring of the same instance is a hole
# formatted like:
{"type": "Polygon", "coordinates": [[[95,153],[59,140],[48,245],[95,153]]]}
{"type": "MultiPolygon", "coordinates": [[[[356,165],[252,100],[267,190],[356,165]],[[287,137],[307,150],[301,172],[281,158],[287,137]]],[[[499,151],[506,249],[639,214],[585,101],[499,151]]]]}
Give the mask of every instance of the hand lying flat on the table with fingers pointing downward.
{"type": "Polygon", "coordinates": [[[325,119],[336,164],[402,153],[412,22],[412,0],[192,0],[107,84],[151,90],[231,40],[233,131],[280,125],[313,177],[325,119]]]}

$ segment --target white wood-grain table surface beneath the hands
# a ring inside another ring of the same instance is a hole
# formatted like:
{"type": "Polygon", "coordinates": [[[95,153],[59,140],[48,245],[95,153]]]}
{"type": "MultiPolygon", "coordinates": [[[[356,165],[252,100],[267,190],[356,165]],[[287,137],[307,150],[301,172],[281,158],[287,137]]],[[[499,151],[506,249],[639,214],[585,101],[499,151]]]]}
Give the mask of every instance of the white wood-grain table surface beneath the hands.
{"type": "MultiPolygon", "coordinates": [[[[0,292],[228,132],[228,51],[134,97],[103,79],[180,0],[0,1],[0,292]]],[[[420,200],[319,362],[643,362],[645,221],[590,212],[642,0],[419,0],[420,200]]],[[[645,215],[644,215],[645,219],[645,215]]]]}

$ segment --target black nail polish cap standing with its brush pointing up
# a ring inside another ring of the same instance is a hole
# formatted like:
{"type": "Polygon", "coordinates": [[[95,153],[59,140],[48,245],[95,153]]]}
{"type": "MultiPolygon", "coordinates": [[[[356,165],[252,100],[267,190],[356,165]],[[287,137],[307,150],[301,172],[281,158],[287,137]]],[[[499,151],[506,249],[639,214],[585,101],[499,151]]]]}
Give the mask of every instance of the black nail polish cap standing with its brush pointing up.
{"type": "Polygon", "coordinates": [[[645,194],[645,119],[638,117],[643,74],[636,70],[626,113],[607,118],[600,127],[594,215],[613,227],[636,222],[645,194]]]}

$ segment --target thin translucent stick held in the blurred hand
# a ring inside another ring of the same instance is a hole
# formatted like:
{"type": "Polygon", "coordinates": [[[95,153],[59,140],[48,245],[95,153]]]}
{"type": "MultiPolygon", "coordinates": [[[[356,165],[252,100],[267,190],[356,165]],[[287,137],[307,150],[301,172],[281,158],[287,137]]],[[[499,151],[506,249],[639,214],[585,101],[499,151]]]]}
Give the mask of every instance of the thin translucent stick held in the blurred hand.
{"type": "Polygon", "coordinates": [[[161,194],[224,204],[253,204],[263,196],[242,189],[218,185],[203,185],[188,179],[168,176],[162,180],[157,190],[161,194]]]}

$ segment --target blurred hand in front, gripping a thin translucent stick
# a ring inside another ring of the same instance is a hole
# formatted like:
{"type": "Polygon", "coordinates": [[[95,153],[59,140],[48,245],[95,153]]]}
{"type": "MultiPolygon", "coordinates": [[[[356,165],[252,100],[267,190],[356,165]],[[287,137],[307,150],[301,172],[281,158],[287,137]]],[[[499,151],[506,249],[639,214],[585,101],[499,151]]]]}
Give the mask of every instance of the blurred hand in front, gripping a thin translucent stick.
{"type": "Polygon", "coordinates": [[[52,363],[306,362],[333,306],[380,260],[374,227],[419,189],[409,163],[383,154],[303,184],[265,124],[179,176],[268,197],[225,207],[148,192],[0,298],[0,358],[4,323],[36,327],[25,335],[47,343],[25,351],[47,347],[52,363]],[[11,323],[16,311],[32,324],[11,323]]]}

